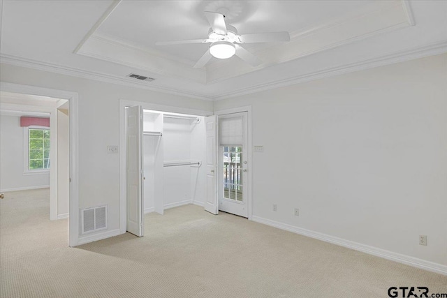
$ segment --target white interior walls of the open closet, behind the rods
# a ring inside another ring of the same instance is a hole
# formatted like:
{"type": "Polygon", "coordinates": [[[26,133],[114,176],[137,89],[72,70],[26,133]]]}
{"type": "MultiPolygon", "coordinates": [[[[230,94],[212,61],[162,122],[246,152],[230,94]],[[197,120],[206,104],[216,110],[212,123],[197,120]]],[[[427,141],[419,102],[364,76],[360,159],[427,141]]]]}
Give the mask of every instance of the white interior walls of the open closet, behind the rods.
{"type": "MultiPolygon", "coordinates": [[[[145,113],[145,131],[154,129],[154,118],[145,113]]],[[[163,119],[163,154],[164,163],[203,161],[205,154],[205,126],[189,119],[163,119]]],[[[180,204],[203,204],[205,202],[205,170],[203,167],[180,165],[173,167],[154,167],[154,144],[158,137],[143,136],[145,151],[145,212],[154,211],[154,177],[163,176],[163,205],[166,208],[180,204]]]]}

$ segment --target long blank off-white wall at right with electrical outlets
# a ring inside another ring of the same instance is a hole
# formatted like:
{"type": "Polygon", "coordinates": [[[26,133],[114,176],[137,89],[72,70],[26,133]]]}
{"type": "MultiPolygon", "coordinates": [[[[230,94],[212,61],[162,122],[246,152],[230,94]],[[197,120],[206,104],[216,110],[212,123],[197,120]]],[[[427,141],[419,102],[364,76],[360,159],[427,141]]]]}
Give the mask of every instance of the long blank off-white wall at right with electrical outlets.
{"type": "Polygon", "coordinates": [[[219,100],[214,110],[245,105],[253,144],[264,146],[253,155],[256,220],[447,265],[447,54],[219,100]]]}

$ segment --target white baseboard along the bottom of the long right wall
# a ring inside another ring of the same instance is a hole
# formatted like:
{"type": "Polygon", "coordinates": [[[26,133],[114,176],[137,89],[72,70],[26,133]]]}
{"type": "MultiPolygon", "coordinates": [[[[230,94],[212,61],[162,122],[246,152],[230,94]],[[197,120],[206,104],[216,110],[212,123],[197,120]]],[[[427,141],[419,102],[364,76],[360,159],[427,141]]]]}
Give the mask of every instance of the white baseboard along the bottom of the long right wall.
{"type": "Polygon", "coordinates": [[[447,266],[437,264],[434,262],[429,262],[426,260],[421,260],[418,258],[411,257],[409,255],[402,255],[400,253],[394,253],[393,251],[386,251],[385,249],[376,248],[373,246],[368,246],[365,244],[360,244],[358,242],[349,241],[346,239],[330,236],[328,234],[323,234],[319,232],[314,232],[311,230],[306,230],[303,228],[295,227],[294,225],[288,225],[286,223],[279,223],[278,221],[272,221],[267,218],[262,218],[259,216],[253,216],[252,221],[257,223],[263,223],[265,225],[270,225],[274,228],[279,228],[281,230],[286,230],[289,232],[294,232],[296,234],[302,234],[303,236],[311,237],[321,241],[329,242],[332,244],[337,244],[339,246],[344,246],[346,248],[351,248],[355,251],[361,251],[362,253],[368,253],[369,255],[376,255],[377,257],[384,258],[387,260],[392,260],[395,262],[400,262],[405,265],[412,267],[417,267],[427,271],[432,271],[438,274],[447,275],[447,266]]]}

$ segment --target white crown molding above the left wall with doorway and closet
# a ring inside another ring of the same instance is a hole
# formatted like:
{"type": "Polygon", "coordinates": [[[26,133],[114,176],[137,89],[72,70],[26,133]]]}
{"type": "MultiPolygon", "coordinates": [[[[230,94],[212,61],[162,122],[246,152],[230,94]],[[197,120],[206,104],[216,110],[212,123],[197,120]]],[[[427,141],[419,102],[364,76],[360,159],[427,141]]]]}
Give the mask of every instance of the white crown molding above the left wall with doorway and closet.
{"type": "Polygon", "coordinates": [[[135,82],[130,78],[117,77],[114,75],[107,75],[105,73],[96,73],[89,70],[82,70],[80,68],[71,68],[68,66],[60,66],[57,64],[51,64],[48,62],[37,61],[33,59],[27,59],[23,57],[17,57],[9,54],[0,54],[0,62],[3,64],[10,64],[13,66],[20,66],[26,68],[32,68],[36,70],[48,71],[50,73],[59,73],[61,75],[70,75],[72,77],[81,77],[89,80],[96,80],[100,82],[106,82],[110,84],[119,84],[126,87],[134,87],[139,89],[146,89],[150,91],[161,92],[164,94],[173,94],[177,96],[184,96],[188,98],[196,98],[201,100],[213,100],[212,96],[205,96],[203,94],[196,94],[193,92],[180,91],[161,86],[149,86],[148,82],[135,82]]]}

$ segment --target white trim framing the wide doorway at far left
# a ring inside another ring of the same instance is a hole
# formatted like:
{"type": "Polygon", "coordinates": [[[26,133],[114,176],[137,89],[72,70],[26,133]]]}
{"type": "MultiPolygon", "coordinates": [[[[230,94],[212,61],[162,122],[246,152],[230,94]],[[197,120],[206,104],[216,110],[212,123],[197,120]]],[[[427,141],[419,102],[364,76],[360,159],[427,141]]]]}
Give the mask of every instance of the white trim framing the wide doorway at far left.
{"type": "MultiPolygon", "coordinates": [[[[68,219],[68,245],[77,246],[79,241],[79,186],[78,186],[78,93],[44,87],[29,86],[24,84],[14,84],[0,82],[0,90],[17,94],[31,94],[37,96],[48,96],[68,100],[70,118],[70,191],[69,191],[69,219],[68,219]]],[[[52,112],[52,114],[55,114],[52,112]]],[[[54,116],[57,117],[57,116],[54,116]]],[[[50,119],[51,121],[51,119],[50,119]]],[[[53,119],[54,123],[54,119],[53,119]]],[[[53,140],[53,139],[52,139],[53,140]]],[[[53,143],[53,142],[52,142],[53,143]]],[[[53,147],[52,147],[53,149],[53,147]]],[[[57,191],[57,163],[50,165],[50,189],[54,195],[57,191]],[[56,168],[54,168],[56,167],[56,168]],[[54,172],[56,171],[56,172],[54,172]]],[[[54,199],[52,200],[54,202],[54,199]]]]}

